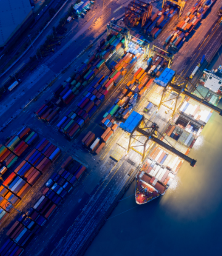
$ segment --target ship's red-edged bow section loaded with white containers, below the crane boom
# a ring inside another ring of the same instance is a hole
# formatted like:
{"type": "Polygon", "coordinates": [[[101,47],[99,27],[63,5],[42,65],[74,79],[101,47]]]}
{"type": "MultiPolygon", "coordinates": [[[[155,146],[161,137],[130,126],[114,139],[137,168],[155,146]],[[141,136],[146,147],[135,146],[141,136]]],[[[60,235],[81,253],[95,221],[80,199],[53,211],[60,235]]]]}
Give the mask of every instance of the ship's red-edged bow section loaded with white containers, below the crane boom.
{"type": "Polygon", "coordinates": [[[142,204],[164,194],[182,163],[177,155],[154,146],[137,175],[136,201],[142,204]]]}

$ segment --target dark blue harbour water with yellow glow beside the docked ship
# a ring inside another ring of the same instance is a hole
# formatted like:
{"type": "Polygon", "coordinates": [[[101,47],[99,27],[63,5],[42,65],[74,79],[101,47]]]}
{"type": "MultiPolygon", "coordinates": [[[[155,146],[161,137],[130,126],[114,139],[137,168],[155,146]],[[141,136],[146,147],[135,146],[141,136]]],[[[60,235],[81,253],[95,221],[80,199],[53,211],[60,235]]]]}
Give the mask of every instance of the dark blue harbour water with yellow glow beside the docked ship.
{"type": "Polygon", "coordinates": [[[138,206],[131,184],[123,198],[133,196],[119,202],[85,255],[221,255],[220,115],[213,112],[189,156],[196,166],[184,162],[159,199],[138,206]]]}

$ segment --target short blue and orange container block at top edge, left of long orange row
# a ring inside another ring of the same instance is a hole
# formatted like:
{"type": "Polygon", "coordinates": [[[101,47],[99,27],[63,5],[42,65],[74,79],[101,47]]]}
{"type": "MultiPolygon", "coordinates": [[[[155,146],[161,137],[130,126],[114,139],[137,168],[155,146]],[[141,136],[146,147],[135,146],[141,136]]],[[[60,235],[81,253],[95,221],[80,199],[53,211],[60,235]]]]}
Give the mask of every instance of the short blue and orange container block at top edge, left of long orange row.
{"type": "Polygon", "coordinates": [[[157,10],[143,27],[144,34],[154,39],[157,38],[177,13],[178,7],[175,7],[175,4],[165,2],[163,8],[157,10]]]}

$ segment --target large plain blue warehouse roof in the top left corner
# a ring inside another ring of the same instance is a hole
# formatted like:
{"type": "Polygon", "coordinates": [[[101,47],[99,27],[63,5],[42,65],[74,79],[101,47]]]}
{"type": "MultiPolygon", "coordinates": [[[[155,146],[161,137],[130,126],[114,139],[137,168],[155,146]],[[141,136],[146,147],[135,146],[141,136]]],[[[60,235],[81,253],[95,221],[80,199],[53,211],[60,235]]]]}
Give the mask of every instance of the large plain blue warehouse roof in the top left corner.
{"type": "Polygon", "coordinates": [[[7,43],[31,13],[29,0],[0,1],[0,46],[7,43]]]}

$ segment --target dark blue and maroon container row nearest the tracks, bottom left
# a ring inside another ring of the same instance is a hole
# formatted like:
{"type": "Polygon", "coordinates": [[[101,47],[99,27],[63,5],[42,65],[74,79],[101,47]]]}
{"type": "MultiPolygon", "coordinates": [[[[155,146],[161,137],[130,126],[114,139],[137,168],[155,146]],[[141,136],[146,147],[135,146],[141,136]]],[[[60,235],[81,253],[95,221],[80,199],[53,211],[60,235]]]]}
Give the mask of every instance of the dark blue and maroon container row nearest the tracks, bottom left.
{"type": "Polygon", "coordinates": [[[30,243],[35,234],[45,225],[52,213],[70,190],[76,186],[86,167],[68,157],[62,163],[57,173],[53,173],[42,189],[43,195],[36,203],[20,215],[10,226],[6,235],[8,238],[0,249],[0,255],[20,255],[30,243]],[[17,254],[15,254],[17,252],[17,254]]]}

